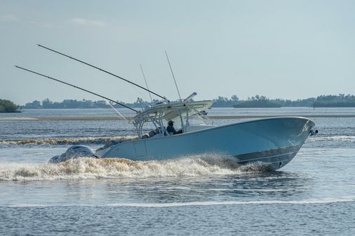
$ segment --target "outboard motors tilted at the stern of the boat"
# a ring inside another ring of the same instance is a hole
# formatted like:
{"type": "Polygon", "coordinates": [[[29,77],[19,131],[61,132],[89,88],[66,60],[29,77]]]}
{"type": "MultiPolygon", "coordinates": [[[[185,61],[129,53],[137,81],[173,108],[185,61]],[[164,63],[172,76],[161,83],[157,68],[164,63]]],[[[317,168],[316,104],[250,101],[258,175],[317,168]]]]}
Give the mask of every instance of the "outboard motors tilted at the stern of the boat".
{"type": "Polygon", "coordinates": [[[48,163],[65,162],[69,159],[76,159],[82,157],[96,158],[93,149],[89,148],[88,146],[74,145],[68,148],[65,153],[62,153],[62,155],[53,156],[53,158],[51,158],[48,163]]]}

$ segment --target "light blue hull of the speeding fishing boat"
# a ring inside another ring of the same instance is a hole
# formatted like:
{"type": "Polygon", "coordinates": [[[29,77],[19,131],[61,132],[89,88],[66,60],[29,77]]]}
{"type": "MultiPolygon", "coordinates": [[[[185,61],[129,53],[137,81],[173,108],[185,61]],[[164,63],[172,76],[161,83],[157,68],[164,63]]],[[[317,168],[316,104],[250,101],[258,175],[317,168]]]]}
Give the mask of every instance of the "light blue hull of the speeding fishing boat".
{"type": "Polygon", "coordinates": [[[242,165],[262,162],[274,170],[292,160],[313,127],[312,120],[302,117],[267,118],[167,137],[126,141],[96,155],[100,158],[166,160],[218,153],[233,156],[242,165]]]}

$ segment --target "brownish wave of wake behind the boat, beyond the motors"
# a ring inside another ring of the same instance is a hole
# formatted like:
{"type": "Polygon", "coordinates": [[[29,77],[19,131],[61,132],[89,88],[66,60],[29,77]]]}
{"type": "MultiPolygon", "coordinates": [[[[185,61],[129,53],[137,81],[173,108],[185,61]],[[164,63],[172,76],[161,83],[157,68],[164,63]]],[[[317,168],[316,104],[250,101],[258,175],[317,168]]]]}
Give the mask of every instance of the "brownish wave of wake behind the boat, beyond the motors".
{"type": "Polygon", "coordinates": [[[66,145],[66,144],[105,144],[109,141],[129,141],[138,139],[137,136],[118,136],[118,137],[86,137],[77,139],[22,139],[22,140],[2,140],[0,145],[66,145]]]}

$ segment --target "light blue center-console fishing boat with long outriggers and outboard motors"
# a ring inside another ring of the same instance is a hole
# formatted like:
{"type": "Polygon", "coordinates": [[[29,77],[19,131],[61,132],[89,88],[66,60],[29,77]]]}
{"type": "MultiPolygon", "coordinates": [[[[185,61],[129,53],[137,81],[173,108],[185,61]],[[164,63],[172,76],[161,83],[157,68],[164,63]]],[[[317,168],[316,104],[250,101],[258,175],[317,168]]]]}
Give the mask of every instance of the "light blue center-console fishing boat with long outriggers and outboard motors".
{"type": "MultiPolygon", "coordinates": [[[[38,46],[99,69],[163,99],[162,102],[138,111],[98,93],[36,71],[15,66],[18,69],[97,95],[136,112],[130,123],[135,126],[138,139],[122,142],[111,141],[95,152],[86,146],[72,146],[62,155],[51,158],[49,162],[62,162],[79,157],[126,158],[138,161],[170,160],[212,153],[231,157],[240,165],[257,163],[266,169],[276,170],[285,166],[295,157],[307,137],[318,132],[313,130],[315,124],[312,120],[297,116],[264,118],[229,125],[217,125],[214,120],[210,120],[208,116],[203,115],[203,111],[209,109],[213,101],[194,101],[193,97],[196,96],[196,92],[184,100],[180,98],[178,102],[170,102],[166,97],[121,76],[116,76],[109,71],[64,53],[59,53],[51,48],[38,46]],[[170,132],[171,128],[168,128],[168,124],[174,122],[177,124],[177,128],[180,128],[179,132],[170,132]]],[[[168,58],[168,55],[166,56],[168,58]]]]}

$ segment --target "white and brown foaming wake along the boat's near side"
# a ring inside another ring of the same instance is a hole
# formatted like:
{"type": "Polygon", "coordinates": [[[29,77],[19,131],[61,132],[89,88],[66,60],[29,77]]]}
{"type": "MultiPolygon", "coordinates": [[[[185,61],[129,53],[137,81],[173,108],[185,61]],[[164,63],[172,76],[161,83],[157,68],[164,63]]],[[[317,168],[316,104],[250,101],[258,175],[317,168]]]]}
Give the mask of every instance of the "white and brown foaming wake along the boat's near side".
{"type": "Polygon", "coordinates": [[[261,163],[241,166],[233,158],[218,155],[163,161],[77,158],[56,164],[2,164],[0,181],[211,176],[264,171],[267,168],[261,163]]]}

